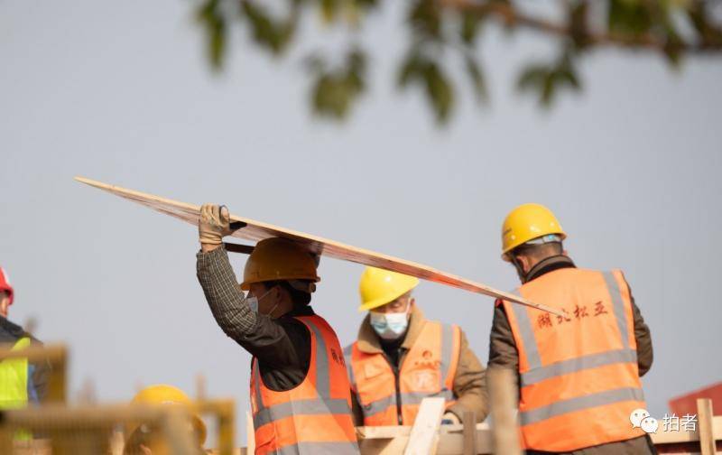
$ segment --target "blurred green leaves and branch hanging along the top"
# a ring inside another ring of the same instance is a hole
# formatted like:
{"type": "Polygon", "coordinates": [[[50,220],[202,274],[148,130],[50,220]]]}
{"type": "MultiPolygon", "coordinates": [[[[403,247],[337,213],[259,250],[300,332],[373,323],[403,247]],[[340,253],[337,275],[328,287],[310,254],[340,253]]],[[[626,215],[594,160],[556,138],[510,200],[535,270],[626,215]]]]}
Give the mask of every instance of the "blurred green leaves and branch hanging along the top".
{"type": "MultiPolygon", "coordinates": [[[[495,22],[508,33],[531,30],[557,43],[558,57],[528,63],[516,84],[521,92],[538,98],[542,107],[550,107],[560,92],[579,90],[578,62],[597,48],[657,53],[675,68],[686,55],[720,53],[720,4],[717,0],[556,0],[560,14],[555,21],[548,14],[534,14],[520,1],[407,0],[403,25],[409,49],[398,63],[397,82],[400,88],[421,89],[440,125],[449,122],[458,99],[459,81],[450,74],[459,71],[453,67],[467,75],[475,98],[486,102],[479,54],[485,25],[495,22]]],[[[372,13],[381,7],[381,0],[203,0],[196,16],[214,70],[222,70],[228,59],[231,25],[244,28],[259,50],[277,57],[298,38],[306,12],[317,14],[329,29],[347,32],[352,43],[343,56],[313,51],[305,57],[312,111],[343,119],[367,86],[369,57],[358,31],[374,20],[372,13]],[[333,57],[341,59],[329,63],[333,57]]]]}

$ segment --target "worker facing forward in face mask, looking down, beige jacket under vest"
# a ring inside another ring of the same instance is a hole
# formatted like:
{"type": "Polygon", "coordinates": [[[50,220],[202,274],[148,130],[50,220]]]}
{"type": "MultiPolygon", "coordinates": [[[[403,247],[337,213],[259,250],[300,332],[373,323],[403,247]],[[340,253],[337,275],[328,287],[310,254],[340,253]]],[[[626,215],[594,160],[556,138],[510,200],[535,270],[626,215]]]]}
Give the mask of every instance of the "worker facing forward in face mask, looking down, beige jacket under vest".
{"type": "Polygon", "coordinates": [[[412,425],[421,399],[447,400],[444,423],[488,410],[484,367],[457,325],[426,320],[417,278],[375,267],[361,275],[358,339],[344,350],[358,425],[412,425]]]}

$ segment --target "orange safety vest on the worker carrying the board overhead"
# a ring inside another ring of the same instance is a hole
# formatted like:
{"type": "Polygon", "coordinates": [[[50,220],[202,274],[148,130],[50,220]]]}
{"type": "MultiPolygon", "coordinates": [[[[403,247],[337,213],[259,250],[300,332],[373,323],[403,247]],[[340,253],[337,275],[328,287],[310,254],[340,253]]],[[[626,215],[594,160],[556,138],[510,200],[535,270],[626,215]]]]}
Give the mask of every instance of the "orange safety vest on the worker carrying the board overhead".
{"type": "Polygon", "coordinates": [[[310,332],[309,371],[301,384],[276,392],[253,359],[251,409],[256,454],[359,453],[351,396],[336,332],[320,316],[296,317],[310,332]]]}

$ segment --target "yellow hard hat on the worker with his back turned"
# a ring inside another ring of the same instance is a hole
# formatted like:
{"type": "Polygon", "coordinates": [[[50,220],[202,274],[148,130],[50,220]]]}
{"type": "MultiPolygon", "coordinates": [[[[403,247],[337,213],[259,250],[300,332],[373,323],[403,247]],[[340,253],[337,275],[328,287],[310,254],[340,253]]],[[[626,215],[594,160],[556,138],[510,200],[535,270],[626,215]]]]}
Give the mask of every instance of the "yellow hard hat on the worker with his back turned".
{"type": "Polygon", "coordinates": [[[509,212],[502,226],[502,259],[509,260],[507,253],[526,242],[548,235],[564,240],[567,234],[557,217],[542,204],[522,204],[509,212]]]}

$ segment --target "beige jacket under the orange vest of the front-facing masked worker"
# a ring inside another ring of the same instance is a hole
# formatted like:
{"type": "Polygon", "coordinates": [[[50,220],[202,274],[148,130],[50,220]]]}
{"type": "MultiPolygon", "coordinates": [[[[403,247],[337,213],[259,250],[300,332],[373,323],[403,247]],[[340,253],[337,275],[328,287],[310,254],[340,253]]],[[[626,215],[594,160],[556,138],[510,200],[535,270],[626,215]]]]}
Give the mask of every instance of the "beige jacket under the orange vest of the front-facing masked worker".
{"type": "MultiPolygon", "coordinates": [[[[384,349],[381,348],[381,341],[376,335],[374,329],[368,321],[369,317],[361,322],[361,328],[358,330],[358,348],[361,352],[368,354],[382,354],[384,349]]],[[[405,339],[401,345],[402,353],[399,358],[399,365],[403,365],[403,359],[406,353],[412,348],[413,343],[419,338],[421,329],[425,323],[423,313],[418,305],[414,305],[409,330],[406,331],[405,339]]],[[[449,408],[459,420],[464,416],[464,411],[474,411],[477,413],[477,422],[486,419],[489,412],[488,395],[486,395],[486,370],[481,364],[474,351],[468,347],[467,336],[461,331],[461,346],[459,349],[457,374],[454,376],[453,393],[457,398],[457,402],[449,408]]],[[[353,413],[356,425],[364,424],[364,417],[361,406],[358,404],[358,398],[352,392],[353,413]]]]}

